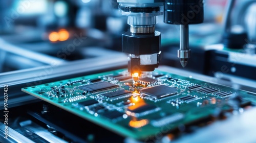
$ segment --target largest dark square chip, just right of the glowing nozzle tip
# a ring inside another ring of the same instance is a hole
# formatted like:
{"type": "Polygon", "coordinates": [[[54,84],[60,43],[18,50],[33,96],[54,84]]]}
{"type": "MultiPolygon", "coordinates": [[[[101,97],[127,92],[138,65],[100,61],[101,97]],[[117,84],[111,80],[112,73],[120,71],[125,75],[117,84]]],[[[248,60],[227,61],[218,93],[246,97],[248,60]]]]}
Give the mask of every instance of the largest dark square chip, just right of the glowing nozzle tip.
{"type": "Polygon", "coordinates": [[[151,88],[146,88],[140,90],[141,93],[146,94],[147,96],[155,97],[157,99],[172,96],[177,93],[177,89],[173,87],[169,87],[166,85],[159,85],[151,88]]]}

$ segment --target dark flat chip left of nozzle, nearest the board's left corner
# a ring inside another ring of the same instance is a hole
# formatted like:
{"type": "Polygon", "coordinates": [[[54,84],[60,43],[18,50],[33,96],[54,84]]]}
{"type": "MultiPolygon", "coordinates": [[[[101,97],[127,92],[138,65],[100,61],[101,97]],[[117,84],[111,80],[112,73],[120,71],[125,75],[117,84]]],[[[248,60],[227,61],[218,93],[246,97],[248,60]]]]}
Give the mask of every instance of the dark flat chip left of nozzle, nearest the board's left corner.
{"type": "Polygon", "coordinates": [[[109,82],[98,82],[94,84],[81,86],[79,87],[79,89],[83,91],[97,92],[97,91],[106,90],[114,87],[117,87],[117,85],[109,82]]]}

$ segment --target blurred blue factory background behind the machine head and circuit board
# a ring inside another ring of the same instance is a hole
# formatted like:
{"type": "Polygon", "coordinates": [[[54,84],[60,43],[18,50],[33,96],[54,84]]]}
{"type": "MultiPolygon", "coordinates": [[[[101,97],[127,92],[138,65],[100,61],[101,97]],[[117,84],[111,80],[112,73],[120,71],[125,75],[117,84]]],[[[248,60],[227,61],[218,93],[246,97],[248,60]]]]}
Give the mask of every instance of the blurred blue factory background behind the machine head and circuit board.
{"type": "MultiPolygon", "coordinates": [[[[177,57],[180,27],[158,16],[160,65],[256,92],[256,1],[228,3],[204,1],[204,22],[189,29],[185,68],[177,57]]],[[[9,84],[9,108],[36,101],[22,87],[127,66],[121,39],[129,25],[116,0],[2,0],[0,17],[0,86],[9,84]]]]}

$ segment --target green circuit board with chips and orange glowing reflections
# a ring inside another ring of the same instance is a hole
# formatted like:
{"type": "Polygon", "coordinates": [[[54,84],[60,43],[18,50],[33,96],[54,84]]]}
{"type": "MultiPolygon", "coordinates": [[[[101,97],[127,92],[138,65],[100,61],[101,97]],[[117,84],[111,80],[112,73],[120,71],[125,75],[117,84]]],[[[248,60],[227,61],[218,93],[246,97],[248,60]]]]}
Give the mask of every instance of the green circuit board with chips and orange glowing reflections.
{"type": "Polygon", "coordinates": [[[179,125],[256,102],[256,95],[165,71],[126,69],[56,81],[22,91],[123,136],[150,140],[179,125]]]}

